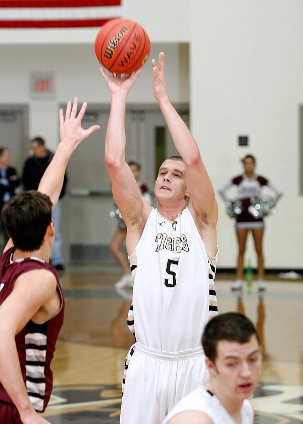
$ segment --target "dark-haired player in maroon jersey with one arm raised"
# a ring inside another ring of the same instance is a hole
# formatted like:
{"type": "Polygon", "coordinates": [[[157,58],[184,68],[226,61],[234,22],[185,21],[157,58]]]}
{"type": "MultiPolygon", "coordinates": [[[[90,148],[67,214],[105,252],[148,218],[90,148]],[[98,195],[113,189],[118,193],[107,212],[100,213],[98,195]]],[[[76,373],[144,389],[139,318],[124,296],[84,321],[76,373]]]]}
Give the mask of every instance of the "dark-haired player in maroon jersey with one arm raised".
{"type": "Polygon", "coordinates": [[[52,208],[77,145],[99,129],[81,127],[86,103],[60,110],[60,144],[38,187],[3,209],[11,237],[0,258],[0,422],[42,424],[51,396],[50,368],[63,322],[64,299],[55,268],[48,264],[55,237],[52,208]]]}

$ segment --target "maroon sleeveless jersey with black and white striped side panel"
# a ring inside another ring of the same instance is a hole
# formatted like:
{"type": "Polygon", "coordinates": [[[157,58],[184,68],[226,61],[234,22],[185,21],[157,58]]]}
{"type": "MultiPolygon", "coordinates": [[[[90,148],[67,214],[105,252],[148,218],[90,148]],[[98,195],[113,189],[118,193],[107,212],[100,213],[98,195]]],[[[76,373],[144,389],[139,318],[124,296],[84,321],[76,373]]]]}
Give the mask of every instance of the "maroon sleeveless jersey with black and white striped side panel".
{"type": "MultiPolygon", "coordinates": [[[[15,338],[28,396],[34,409],[43,412],[53,389],[53,373],[50,366],[63,324],[64,298],[57,272],[52,265],[34,257],[13,262],[13,253],[14,248],[9,249],[0,257],[0,308],[13,291],[16,279],[21,274],[33,269],[45,269],[55,275],[57,290],[61,298],[61,308],[55,316],[43,324],[29,321],[15,338]]],[[[1,383],[0,402],[13,403],[1,383]]]]}

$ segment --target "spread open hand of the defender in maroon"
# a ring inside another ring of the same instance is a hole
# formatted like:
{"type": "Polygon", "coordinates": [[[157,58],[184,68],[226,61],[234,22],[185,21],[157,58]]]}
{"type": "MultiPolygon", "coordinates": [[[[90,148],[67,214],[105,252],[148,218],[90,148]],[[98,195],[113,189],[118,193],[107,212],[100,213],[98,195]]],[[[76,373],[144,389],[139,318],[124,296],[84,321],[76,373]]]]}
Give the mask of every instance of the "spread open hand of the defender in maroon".
{"type": "Polygon", "coordinates": [[[60,140],[62,143],[71,143],[73,150],[76,149],[79,143],[81,143],[85,138],[89,137],[95,131],[100,129],[99,125],[92,125],[88,129],[84,129],[81,126],[82,118],[85,114],[87,103],[84,102],[78,116],[78,98],[74,98],[73,107],[71,101],[67,103],[65,118],[63,109],[59,111],[59,120],[60,120],[60,140]]]}

